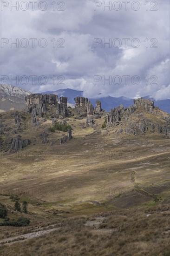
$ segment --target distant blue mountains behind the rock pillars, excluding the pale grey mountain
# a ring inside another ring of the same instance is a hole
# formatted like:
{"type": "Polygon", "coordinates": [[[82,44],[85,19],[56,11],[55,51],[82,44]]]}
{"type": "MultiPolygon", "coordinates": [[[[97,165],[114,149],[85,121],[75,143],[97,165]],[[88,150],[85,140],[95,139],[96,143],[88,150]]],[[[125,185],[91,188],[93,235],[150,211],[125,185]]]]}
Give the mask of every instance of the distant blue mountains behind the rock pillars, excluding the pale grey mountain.
{"type": "MultiPolygon", "coordinates": [[[[83,91],[77,91],[72,89],[59,89],[57,91],[53,91],[53,92],[48,91],[48,92],[43,92],[41,94],[57,94],[59,97],[65,96],[68,98],[69,103],[75,104],[74,98],[77,96],[83,96],[83,91]]],[[[158,107],[163,111],[170,113],[170,99],[155,101],[154,99],[150,98],[150,96],[145,96],[143,98],[153,100],[155,107],[158,107]]],[[[94,107],[96,106],[96,103],[95,103],[96,100],[97,98],[96,99],[89,98],[89,101],[92,102],[92,105],[94,107]]],[[[107,96],[107,97],[98,98],[98,100],[101,101],[101,106],[106,111],[110,111],[111,108],[118,107],[120,104],[122,104],[125,108],[133,105],[133,99],[123,97],[123,96],[118,98],[107,96]]]]}

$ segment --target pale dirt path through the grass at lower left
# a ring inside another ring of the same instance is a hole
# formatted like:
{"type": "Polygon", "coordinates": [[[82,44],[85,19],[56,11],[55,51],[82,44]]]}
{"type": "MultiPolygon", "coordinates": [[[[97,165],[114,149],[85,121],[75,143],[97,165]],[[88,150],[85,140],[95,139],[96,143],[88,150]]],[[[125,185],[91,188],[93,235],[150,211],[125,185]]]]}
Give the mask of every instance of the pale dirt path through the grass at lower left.
{"type": "Polygon", "coordinates": [[[11,245],[13,243],[17,243],[17,242],[22,242],[28,239],[32,239],[38,236],[43,236],[45,234],[48,234],[54,230],[58,230],[59,228],[54,228],[51,227],[50,229],[46,229],[46,230],[40,230],[40,231],[36,231],[36,232],[32,232],[32,233],[27,233],[24,235],[20,235],[20,236],[13,236],[13,237],[8,237],[6,239],[0,240],[0,246],[4,245],[4,244],[8,244],[11,245]]]}

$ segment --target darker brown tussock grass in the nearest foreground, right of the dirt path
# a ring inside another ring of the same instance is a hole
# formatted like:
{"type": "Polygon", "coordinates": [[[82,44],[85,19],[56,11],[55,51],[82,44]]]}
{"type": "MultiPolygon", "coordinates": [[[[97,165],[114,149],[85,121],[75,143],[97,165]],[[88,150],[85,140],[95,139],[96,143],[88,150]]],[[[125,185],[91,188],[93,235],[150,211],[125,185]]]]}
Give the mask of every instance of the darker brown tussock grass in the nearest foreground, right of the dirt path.
{"type": "Polygon", "coordinates": [[[1,255],[168,256],[169,213],[170,207],[162,205],[66,218],[48,235],[1,246],[1,255]],[[85,225],[98,218],[101,224],[85,225]]]}

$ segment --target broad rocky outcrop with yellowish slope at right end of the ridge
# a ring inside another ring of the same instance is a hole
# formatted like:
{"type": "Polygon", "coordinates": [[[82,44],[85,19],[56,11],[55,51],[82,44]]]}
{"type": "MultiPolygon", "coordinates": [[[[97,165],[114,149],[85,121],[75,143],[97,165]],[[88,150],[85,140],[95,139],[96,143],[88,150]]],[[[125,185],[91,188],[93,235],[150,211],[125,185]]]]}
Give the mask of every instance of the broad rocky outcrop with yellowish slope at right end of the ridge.
{"type": "Polygon", "coordinates": [[[154,107],[154,102],[143,98],[134,100],[131,107],[122,105],[111,109],[107,115],[107,126],[118,126],[117,133],[144,135],[162,133],[170,136],[170,118],[163,115],[159,108],[154,107]]]}

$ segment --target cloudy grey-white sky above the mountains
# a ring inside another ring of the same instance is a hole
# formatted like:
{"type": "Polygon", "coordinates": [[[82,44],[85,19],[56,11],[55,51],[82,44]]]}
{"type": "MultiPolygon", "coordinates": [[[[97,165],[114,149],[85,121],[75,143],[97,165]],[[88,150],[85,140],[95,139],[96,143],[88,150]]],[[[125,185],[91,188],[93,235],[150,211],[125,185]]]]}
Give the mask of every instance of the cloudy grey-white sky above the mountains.
{"type": "Polygon", "coordinates": [[[1,83],[170,98],[169,0],[16,2],[1,1],[1,83]]]}

